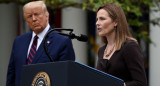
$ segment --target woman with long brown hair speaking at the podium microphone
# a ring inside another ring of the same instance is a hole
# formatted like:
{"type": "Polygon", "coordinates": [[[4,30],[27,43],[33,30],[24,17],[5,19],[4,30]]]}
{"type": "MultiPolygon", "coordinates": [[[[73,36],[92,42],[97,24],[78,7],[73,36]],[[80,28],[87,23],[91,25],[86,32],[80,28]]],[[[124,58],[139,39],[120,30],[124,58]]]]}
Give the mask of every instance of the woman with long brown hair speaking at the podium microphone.
{"type": "Polygon", "coordinates": [[[143,56],[131,36],[122,8],[108,3],[97,10],[96,27],[104,46],[99,48],[96,68],[124,80],[124,86],[147,86],[143,56]]]}

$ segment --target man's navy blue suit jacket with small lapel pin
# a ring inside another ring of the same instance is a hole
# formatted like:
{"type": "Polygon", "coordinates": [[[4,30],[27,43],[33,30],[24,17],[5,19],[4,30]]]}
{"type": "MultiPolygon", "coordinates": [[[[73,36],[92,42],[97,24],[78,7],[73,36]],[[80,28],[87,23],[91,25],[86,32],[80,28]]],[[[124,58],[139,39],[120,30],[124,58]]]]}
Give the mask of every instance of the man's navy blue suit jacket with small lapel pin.
{"type": "MultiPolygon", "coordinates": [[[[14,40],[10,62],[7,73],[7,86],[19,86],[21,69],[26,65],[27,52],[32,37],[32,32],[26,33],[17,37],[14,40]]],[[[71,40],[54,32],[47,38],[50,43],[47,45],[48,51],[54,61],[75,60],[75,53],[73,50],[71,40]]],[[[47,57],[43,44],[41,43],[32,64],[50,62],[47,57]]],[[[24,77],[25,78],[25,77],[24,77]]]]}

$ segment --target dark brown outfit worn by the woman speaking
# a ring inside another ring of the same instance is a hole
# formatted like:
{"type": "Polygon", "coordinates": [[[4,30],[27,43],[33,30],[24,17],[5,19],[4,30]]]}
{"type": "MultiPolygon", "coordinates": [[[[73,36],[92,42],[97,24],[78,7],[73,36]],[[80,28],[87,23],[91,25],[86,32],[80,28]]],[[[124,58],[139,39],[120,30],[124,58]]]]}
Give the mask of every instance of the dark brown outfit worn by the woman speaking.
{"type": "Polygon", "coordinates": [[[143,56],[138,44],[126,41],[109,60],[103,59],[106,46],[99,49],[97,69],[123,79],[126,86],[147,86],[143,56]]]}

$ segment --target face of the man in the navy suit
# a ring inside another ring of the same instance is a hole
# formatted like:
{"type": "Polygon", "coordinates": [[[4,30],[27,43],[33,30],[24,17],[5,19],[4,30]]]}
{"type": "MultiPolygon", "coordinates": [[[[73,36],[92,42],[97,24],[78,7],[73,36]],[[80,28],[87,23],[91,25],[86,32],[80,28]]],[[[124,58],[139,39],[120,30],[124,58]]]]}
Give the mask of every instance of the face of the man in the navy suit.
{"type": "Polygon", "coordinates": [[[48,24],[48,15],[42,10],[42,6],[31,5],[26,7],[24,17],[29,27],[36,33],[41,33],[48,24]]]}

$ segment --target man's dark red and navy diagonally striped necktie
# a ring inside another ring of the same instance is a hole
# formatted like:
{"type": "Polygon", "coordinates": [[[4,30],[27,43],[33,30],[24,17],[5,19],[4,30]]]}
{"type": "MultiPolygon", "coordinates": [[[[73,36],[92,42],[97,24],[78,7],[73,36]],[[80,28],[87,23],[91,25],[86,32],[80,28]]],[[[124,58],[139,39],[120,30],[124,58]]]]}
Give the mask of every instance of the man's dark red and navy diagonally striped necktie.
{"type": "Polygon", "coordinates": [[[31,64],[32,61],[33,61],[33,59],[34,59],[34,56],[36,55],[36,51],[37,51],[36,49],[37,49],[37,43],[38,43],[37,39],[38,39],[38,36],[36,35],[34,37],[32,46],[31,46],[30,51],[29,51],[29,55],[28,55],[28,59],[27,59],[27,64],[31,64]]]}

